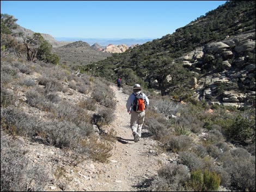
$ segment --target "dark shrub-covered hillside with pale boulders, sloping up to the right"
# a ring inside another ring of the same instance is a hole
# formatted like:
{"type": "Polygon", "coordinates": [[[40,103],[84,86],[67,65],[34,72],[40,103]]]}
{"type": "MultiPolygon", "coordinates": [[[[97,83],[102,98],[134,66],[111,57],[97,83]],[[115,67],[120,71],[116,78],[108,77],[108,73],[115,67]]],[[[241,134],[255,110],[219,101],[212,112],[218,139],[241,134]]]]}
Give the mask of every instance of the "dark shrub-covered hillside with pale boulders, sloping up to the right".
{"type": "Polygon", "coordinates": [[[176,100],[255,105],[255,2],[228,1],[172,35],[89,65],[176,100]],[[138,70],[140,69],[140,70],[138,70]],[[132,74],[132,75],[131,75],[132,74]]]}

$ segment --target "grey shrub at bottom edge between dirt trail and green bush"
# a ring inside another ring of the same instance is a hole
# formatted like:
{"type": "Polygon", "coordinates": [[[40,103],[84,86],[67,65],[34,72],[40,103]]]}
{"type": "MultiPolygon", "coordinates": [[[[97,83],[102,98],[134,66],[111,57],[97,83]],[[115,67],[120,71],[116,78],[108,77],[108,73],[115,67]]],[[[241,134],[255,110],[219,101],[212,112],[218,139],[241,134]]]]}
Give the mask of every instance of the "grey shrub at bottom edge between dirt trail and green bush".
{"type": "Polygon", "coordinates": [[[187,166],[179,164],[164,165],[158,175],[159,179],[151,185],[152,191],[183,191],[185,183],[190,179],[187,166]]]}

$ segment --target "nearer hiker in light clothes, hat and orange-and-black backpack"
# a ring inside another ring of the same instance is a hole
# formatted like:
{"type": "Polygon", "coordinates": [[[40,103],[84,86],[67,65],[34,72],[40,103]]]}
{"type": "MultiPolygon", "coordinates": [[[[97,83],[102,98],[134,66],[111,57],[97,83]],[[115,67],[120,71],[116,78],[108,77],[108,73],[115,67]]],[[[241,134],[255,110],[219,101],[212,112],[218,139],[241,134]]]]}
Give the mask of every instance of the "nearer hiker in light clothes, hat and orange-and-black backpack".
{"type": "Polygon", "coordinates": [[[134,141],[137,143],[141,138],[142,125],[145,119],[145,109],[149,105],[148,97],[141,91],[141,85],[133,86],[133,93],[126,102],[127,112],[131,114],[130,126],[134,141]]]}

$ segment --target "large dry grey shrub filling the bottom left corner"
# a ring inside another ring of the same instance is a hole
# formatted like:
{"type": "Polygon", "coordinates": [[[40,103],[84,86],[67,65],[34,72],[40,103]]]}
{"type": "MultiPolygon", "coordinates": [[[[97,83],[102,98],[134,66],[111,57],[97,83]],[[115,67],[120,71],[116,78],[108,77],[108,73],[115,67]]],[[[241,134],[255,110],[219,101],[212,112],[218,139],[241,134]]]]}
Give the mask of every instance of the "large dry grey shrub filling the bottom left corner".
{"type": "Polygon", "coordinates": [[[48,183],[45,167],[32,165],[18,141],[1,131],[1,191],[44,191],[48,183]]]}

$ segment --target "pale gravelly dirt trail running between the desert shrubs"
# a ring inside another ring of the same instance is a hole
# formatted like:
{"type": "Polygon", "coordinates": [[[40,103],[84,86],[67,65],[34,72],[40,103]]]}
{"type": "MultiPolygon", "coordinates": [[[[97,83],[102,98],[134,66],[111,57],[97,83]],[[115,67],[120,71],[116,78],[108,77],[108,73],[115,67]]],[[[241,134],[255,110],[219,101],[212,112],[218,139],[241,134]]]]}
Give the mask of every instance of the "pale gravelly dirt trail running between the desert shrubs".
{"type": "Polygon", "coordinates": [[[117,100],[115,120],[111,127],[117,131],[118,141],[114,144],[110,162],[95,164],[101,174],[90,184],[92,191],[136,191],[139,183],[157,174],[160,156],[154,153],[155,141],[142,129],[142,138],[135,143],[130,129],[130,115],[125,104],[129,95],[111,85],[117,100]]]}

